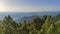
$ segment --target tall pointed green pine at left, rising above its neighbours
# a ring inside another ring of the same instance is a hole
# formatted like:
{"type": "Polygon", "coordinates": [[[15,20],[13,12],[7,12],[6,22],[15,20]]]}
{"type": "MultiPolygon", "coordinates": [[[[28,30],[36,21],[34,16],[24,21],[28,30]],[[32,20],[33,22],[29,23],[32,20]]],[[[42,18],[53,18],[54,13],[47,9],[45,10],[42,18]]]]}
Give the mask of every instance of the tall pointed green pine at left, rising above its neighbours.
{"type": "Polygon", "coordinates": [[[5,16],[3,19],[3,23],[5,23],[5,34],[14,34],[15,32],[15,21],[10,17],[10,15],[5,16]]]}

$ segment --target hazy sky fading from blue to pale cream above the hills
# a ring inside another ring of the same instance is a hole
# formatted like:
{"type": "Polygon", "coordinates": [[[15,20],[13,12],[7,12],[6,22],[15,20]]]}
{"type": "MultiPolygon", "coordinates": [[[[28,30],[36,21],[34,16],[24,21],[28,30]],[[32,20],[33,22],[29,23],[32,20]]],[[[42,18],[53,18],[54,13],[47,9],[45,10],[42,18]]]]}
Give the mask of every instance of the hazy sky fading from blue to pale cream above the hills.
{"type": "Polygon", "coordinates": [[[60,11],[60,0],[0,0],[0,12],[60,11]]]}

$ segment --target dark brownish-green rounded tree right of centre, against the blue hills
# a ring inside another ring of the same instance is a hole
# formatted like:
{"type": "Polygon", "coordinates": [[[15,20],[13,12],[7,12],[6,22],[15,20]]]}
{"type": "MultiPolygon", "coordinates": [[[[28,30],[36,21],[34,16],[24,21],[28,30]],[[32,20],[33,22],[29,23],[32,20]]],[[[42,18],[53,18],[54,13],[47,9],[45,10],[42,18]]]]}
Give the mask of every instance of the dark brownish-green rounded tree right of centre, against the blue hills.
{"type": "Polygon", "coordinates": [[[36,30],[41,29],[41,26],[43,24],[42,19],[40,19],[38,16],[35,16],[32,22],[36,30]]]}

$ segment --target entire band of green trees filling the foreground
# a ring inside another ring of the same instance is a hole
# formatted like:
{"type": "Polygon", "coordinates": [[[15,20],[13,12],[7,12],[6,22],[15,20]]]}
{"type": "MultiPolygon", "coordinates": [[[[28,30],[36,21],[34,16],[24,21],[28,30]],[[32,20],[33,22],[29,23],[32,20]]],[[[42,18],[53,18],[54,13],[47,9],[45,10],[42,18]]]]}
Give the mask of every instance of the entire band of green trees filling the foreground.
{"type": "Polygon", "coordinates": [[[0,21],[0,34],[60,34],[60,20],[53,18],[35,16],[31,22],[17,23],[8,15],[0,21]]]}

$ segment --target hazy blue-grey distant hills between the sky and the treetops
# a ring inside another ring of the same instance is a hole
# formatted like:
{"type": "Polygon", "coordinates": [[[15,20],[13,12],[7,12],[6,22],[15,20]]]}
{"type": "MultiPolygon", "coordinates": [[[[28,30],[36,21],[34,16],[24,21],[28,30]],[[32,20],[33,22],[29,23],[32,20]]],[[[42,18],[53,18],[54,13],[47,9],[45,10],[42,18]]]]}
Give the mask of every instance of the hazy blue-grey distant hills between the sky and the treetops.
{"type": "MultiPolygon", "coordinates": [[[[34,16],[39,16],[39,17],[42,17],[43,15],[56,16],[58,14],[60,14],[60,11],[44,11],[44,12],[0,12],[0,19],[3,19],[4,16],[10,15],[16,21],[22,22],[24,20],[31,21],[34,16]]],[[[55,19],[56,19],[56,17],[55,17],[55,19]]]]}

